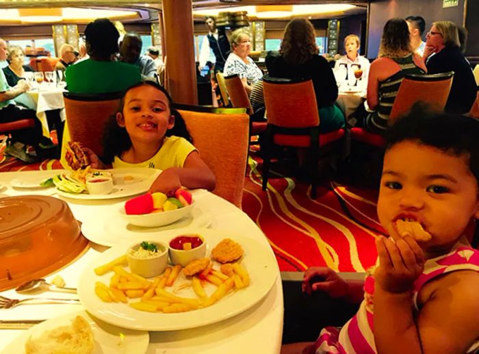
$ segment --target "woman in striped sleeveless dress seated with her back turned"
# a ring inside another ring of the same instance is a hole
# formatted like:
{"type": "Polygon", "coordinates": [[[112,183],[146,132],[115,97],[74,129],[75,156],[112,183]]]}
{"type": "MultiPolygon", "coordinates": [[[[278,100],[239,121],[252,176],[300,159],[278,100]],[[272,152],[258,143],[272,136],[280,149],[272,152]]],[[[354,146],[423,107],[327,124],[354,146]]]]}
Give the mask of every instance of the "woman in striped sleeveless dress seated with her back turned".
{"type": "Polygon", "coordinates": [[[404,75],[425,72],[422,58],[411,47],[406,21],[391,18],[384,26],[378,58],[371,64],[367,81],[367,106],[372,112],[363,117],[358,114],[359,125],[374,133],[385,131],[404,75]]]}

